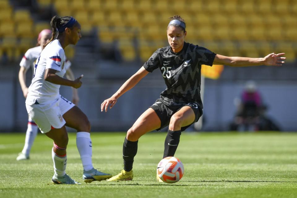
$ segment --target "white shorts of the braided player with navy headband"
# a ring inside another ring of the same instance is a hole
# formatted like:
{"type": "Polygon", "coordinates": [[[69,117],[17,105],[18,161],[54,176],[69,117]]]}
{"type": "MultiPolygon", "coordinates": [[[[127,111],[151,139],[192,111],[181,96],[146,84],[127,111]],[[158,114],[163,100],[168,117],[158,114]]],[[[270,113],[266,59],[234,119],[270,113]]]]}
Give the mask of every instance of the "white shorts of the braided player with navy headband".
{"type": "Polygon", "coordinates": [[[59,129],[63,127],[66,122],[62,115],[69,111],[73,106],[75,105],[71,101],[68,101],[62,96],[48,105],[26,104],[29,116],[37,124],[41,133],[47,133],[52,128],[59,129]]]}

